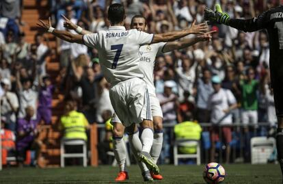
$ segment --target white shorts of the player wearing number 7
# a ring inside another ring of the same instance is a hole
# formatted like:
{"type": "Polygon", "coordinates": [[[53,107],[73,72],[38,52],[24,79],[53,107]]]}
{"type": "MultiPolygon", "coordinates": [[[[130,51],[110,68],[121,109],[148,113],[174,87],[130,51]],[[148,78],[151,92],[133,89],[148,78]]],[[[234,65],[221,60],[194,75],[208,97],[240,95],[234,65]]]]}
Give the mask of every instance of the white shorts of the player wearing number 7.
{"type": "Polygon", "coordinates": [[[110,88],[109,96],[113,109],[125,127],[152,120],[148,88],[142,79],[133,78],[116,84],[110,88]]]}

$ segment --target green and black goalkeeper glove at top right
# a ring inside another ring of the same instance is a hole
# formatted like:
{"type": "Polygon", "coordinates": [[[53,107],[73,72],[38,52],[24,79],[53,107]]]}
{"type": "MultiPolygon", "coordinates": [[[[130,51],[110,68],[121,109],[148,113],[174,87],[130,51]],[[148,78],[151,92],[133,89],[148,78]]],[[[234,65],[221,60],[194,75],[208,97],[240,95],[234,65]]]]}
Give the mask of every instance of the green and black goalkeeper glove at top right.
{"type": "Polygon", "coordinates": [[[215,5],[215,12],[209,8],[204,10],[204,20],[210,21],[212,23],[228,24],[230,16],[226,12],[222,12],[221,6],[219,4],[215,5]]]}

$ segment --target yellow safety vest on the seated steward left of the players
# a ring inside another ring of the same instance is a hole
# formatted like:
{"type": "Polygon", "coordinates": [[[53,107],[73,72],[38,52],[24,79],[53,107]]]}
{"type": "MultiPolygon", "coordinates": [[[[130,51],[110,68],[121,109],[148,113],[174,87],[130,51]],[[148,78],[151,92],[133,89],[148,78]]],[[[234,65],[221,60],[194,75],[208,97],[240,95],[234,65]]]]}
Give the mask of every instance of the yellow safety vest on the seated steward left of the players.
{"type": "Polygon", "coordinates": [[[88,126],[85,116],[77,111],[70,111],[68,115],[61,117],[64,138],[87,140],[85,127],[88,126]]]}

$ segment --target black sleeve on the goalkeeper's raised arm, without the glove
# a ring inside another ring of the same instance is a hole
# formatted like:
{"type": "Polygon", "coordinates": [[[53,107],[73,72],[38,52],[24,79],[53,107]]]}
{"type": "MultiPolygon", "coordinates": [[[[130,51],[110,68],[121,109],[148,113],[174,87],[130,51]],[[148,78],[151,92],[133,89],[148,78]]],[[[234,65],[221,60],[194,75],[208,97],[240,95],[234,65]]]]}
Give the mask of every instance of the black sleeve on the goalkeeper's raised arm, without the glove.
{"type": "Polygon", "coordinates": [[[228,25],[241,31],[253,32],[260,29],[267,28],[269,23],[270,10],[263,12],[255,18],[244,19],[230,19],[228,25]]]}

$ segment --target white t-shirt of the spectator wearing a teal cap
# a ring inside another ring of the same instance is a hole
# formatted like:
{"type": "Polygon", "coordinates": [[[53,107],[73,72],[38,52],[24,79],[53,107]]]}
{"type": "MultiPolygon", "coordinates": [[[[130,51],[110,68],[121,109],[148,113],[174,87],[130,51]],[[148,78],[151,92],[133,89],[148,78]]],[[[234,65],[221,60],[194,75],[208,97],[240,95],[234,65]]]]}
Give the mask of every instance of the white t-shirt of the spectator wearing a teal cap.
{"type": "Polygon", "coordinates": [[[221,88],[208,97],[208,109],[211,110],[211,122],[213,124],[232,124],[232,114],[225,114],[224,110],[237,103],[230,90],[221,88]]]}

